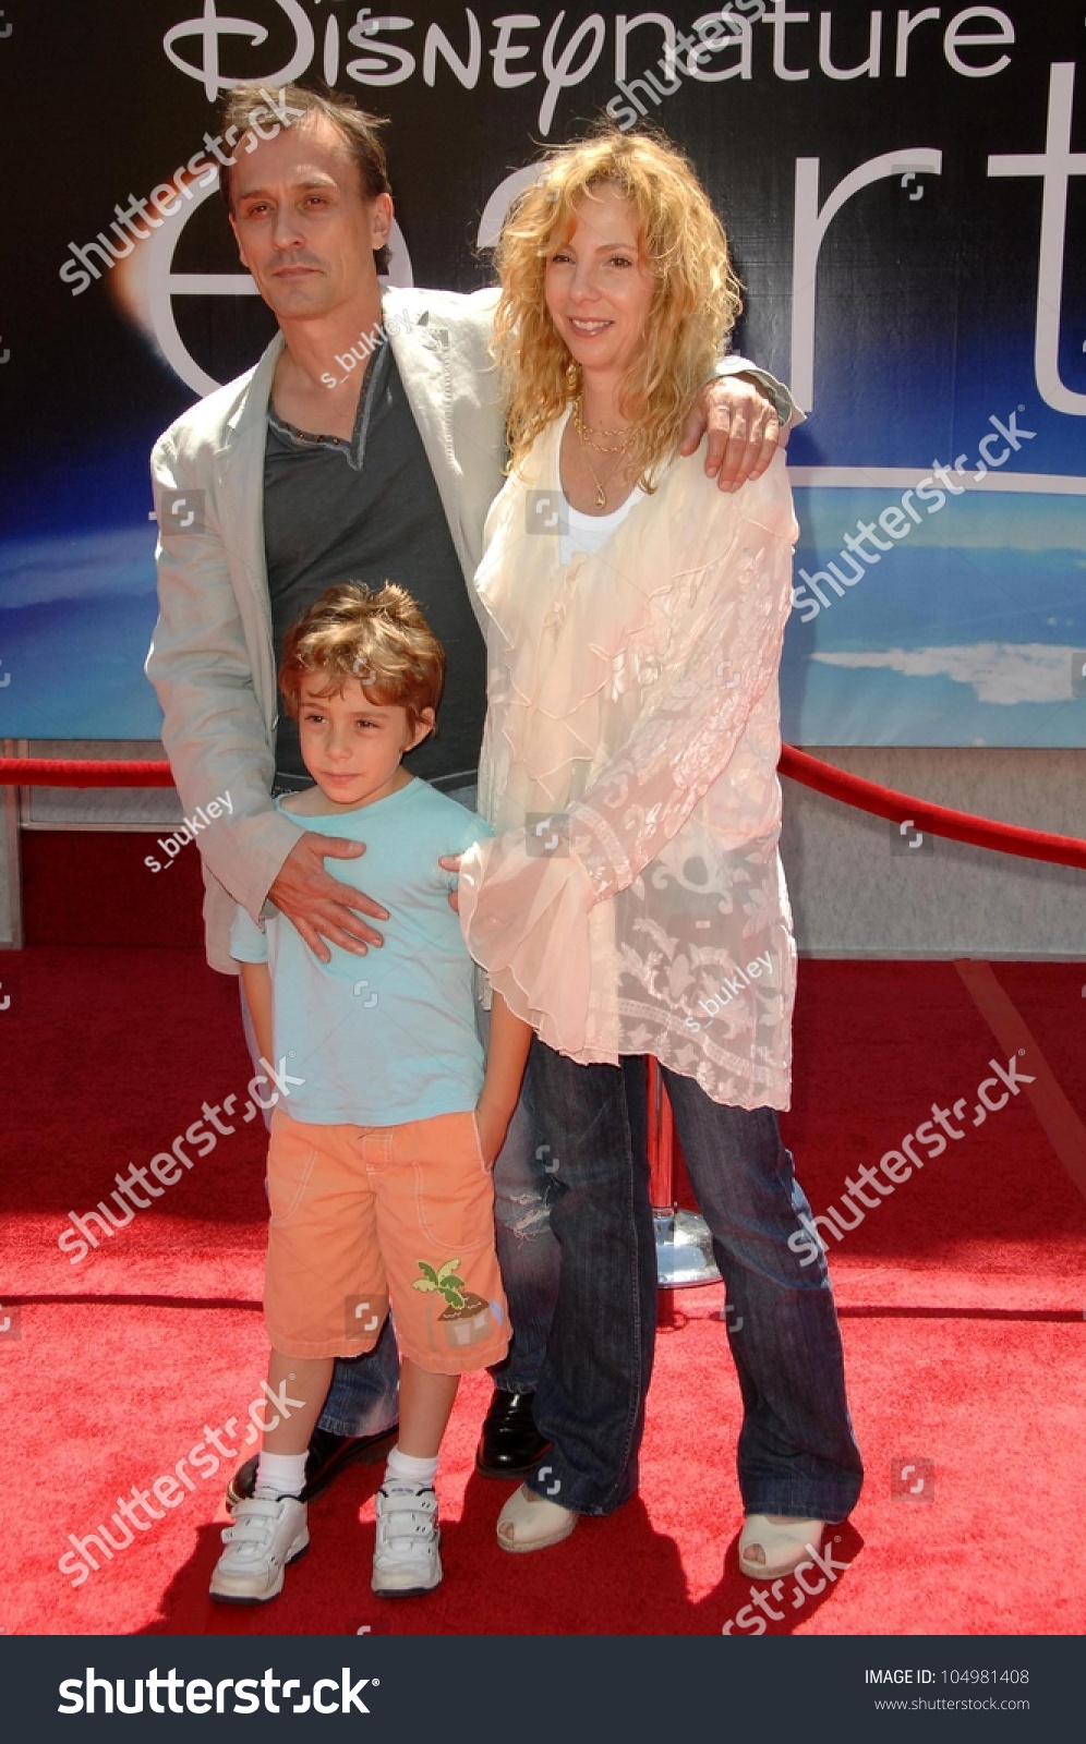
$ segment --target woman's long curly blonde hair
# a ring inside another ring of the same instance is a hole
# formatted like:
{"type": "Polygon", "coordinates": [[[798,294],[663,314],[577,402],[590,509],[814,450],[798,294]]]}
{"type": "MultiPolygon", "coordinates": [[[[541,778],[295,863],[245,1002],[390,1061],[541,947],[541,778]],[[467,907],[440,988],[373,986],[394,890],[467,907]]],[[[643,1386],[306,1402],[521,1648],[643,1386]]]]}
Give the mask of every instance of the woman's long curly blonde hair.
{"type": "Polygon", "coordinates": [[[546,307],[546,263],[569,241],[576,206],[613,187],[634,208],[637,248],[655,279],[644,344],[618,401],[632,424],[630,467],[643,490],[674,453],[690,405],[712,373],[742,309],[725,228],[690,160],[662,134],[601,126],[559,146],[501,228],[494,265],[501,298],[492,354],[501,370],[510,469],[580,392],[580,368],[546,307]]]}

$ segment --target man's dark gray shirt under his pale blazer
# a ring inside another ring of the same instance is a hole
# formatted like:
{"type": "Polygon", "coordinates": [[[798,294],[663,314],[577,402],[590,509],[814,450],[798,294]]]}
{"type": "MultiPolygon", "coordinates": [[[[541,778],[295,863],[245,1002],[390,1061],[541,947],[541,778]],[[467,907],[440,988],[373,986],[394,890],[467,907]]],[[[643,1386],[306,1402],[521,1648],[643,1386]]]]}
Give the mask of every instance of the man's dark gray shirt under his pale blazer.
{"type": "MultiPolygon", "coordinates": [[[[494,490],[499,483],[496,478],[494,490]]],[[[386,340],[368,361],[349,441],[309,436],[269,408],[264,549],[276,666],[286,630],[325,588],[342,581],[407,588],[447,657],[438,732],[410,753],[410,773],[436,788],[473,781],[485,715],[485,649],[386,340]]],[[[279,708],[276,788],[309,785],[299,729],[279,708]]]]}

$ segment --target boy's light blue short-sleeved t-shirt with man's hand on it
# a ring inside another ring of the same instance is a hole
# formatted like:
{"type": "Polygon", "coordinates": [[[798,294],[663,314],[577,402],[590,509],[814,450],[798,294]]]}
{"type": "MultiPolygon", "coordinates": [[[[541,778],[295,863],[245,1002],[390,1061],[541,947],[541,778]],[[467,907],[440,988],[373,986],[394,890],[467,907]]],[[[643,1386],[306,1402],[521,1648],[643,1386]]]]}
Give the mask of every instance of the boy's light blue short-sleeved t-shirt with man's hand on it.
{"type": "Polygon", "coordinates": [[[264,931],[244,909],[230,930],[230,956],[267,963],[274,996],[272,1064],[286,1057],[283,1104],[314,1125],[398,1127],[473,1109],[484,1080],[475,1032],[473,970],[459,917],[449,907],[456,874],[440,855],[459,855],[491,827],[426,781],[335,816],[278,809],[299,832],[365,842],[358,860],[325,860],[332,877],[388,909],[374,923],[384,945],[356,957],[330,945],[318,963],[286,919],[264,931]]]}

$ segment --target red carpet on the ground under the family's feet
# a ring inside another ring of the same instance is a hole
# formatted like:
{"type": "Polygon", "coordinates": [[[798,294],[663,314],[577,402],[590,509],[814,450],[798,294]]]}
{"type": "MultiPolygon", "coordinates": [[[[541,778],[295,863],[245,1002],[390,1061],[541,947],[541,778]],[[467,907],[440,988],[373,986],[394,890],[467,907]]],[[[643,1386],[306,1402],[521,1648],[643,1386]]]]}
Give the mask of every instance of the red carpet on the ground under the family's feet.
{"type": "MultiPolygon", "coordinates": [[[[141,837],[122,841],[129,856],[133,844],[143,851],[141,837]]],[[[143,910],[166,893],[152,886],[190,870],[131,879],[131,900],[113,895],[110,905],[117,926],[129,919],[154,937],[143,910]]],[[[63,912],[52,896],[40,900],[42,888],[38,879],[38,938],[45,914],[63,912]]],[[[1060,964],[995,973],[1084,1118],[1086,973],[1060,964]]],[[[1086,1202],[1025,1090],[971,1125],[988,1060],[1006,1066],[1006,1052],[952,964],[801,966],[786,1137],[815,1210],[838,1203],[847,1175],[931,1118],[932,1100],[967,1107],[962,1141],[833,1243],[868,1484],[836,1529],[833,1557],[847,1568],[800,1603],[784,1582],[765,1601],[779,1618],[744,1610],[751,1584],[737,1571],[739,1399],[719,1289],[662,1298],[639,1500],[553,1550],[512,1557],[494,1542],[508,1491],[471,1468],[489,1383],[470,1378],[443,1460],[438,1594],[400,1604],[370,1596],[377,1479],[356,1472],[313,1507],[313,1549],[279,1601],[255,1611],[210,1606],[222,1472],[197,1468],[187,1468],[192,1489],[162,1486],[175,1507],[159,1507],[161,1519],[112,1561],[98,1556],[100,1571],[73,1587],[58,1571],[70,1533],[110,1524],[119,1496],[150,1491],[206,1430],[236,1418],[229,1444],[244,1435],[265,1357],[264,1135],[257,1121],[241,1125],[204,1158],[196,1139],[182,1139],[192,1168],[72,1264],[58,1250],[68,1210],[86,1212],[119,1170],[169,1151],[204,1100],[222,1106],[243,1092],[236,989],[194,950],[66,944],[0,956],[0,982],[3,994],[16,989],[0,1015],[9,1210],[0,1327],[17,1310],[0,1336],[12,1454],[7,1634],[714,1634],[730,1620],[733,1634],[749,1634],[758,1618],[770,1632],[807,1634],[1086,1625],[1077,1573],[1086,1202]],[[917,1467],[906,1488],[925,1479],[920,1496],[892,1493],[892,1467],[904,1463],[917,1467]]],[[[223,1460],[223,1472],[232,1465],[223,1460]]]]}

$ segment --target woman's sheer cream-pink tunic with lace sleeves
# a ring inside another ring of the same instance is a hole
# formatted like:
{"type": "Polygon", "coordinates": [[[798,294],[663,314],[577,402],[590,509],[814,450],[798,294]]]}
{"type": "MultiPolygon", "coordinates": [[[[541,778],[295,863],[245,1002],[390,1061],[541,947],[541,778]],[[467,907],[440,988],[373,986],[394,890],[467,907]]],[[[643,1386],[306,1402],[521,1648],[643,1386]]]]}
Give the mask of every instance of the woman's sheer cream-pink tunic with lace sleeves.
{"type": "Polygon", "coordinates": [[[566,417],[496,499],[475,576],[478,809],[499,834],[463,860],[464,937],[560,1053],[653,1053],[716,1102],[784,1109],[784,455],[732,495],[702,453],[674,460],[595,553],[562,562],[566,417]]]}

